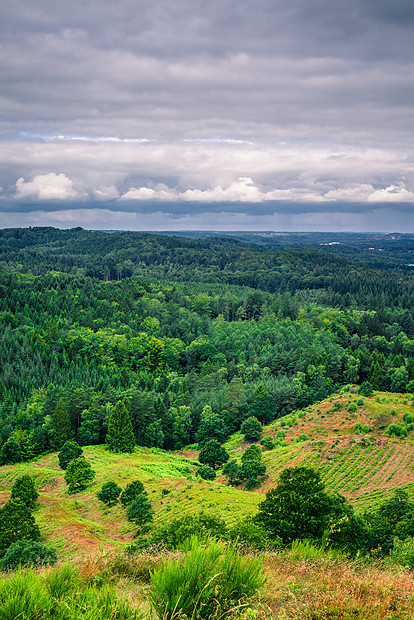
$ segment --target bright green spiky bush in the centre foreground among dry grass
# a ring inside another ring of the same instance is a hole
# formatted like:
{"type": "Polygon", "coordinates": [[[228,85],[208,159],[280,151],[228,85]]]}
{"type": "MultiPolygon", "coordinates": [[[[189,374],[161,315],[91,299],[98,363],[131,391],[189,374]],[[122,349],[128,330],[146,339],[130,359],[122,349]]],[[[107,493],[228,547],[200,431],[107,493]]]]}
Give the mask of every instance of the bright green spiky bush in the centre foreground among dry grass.
{"type": "Polygon", "coordinates": [[[188,542],[182,561],[171,559],[151,575],[150,600],[160,618],[209,618],[247,605],[263,585],[262,562],[243,557],[234,543],[188,542]]]}

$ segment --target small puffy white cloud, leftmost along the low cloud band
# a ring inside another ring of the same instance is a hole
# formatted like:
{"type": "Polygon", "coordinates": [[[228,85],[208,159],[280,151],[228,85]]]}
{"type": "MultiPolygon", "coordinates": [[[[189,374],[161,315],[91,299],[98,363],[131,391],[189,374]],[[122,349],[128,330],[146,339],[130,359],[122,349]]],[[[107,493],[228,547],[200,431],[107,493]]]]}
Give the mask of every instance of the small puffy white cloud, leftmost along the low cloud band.
{"type": "Polygon", "coordinates": [[[68,200],[79,198],[73,188],[73,181],[65,174],[39,174],[33,181],[25,181],[20,177],[16,181],[16,197],[34,200],[68,200]]]}

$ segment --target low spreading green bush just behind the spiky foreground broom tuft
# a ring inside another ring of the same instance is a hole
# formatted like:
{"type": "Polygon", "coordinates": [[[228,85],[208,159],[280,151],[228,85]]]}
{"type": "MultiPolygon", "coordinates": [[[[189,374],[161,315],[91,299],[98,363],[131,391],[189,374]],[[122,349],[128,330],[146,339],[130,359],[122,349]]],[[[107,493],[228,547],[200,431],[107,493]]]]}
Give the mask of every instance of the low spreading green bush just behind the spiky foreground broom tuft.
{"type": "Polygon", "coordinates": [[[185,515],[172,519],[168,524],[159,526],[151,533],[153,543],[162,543],[168,549],[181,547],[191,536],[199,539],[227,538],[226,522],[221,517],[200,512],[198,515],[185,515]]]}

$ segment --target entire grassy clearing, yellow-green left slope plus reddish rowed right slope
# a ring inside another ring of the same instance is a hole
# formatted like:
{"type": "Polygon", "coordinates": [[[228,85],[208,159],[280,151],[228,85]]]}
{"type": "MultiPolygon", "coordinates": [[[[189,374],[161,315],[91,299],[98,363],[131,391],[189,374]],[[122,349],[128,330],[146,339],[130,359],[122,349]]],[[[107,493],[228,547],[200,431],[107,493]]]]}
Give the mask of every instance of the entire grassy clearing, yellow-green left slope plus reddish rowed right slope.
{"type": "MultiPolygon", "coordinates": [[[[277,483],[280,471],[295,465],[318,469],[330,491],[342,493],[362,510],[384,501],[396,488],[414,497],[414,431],[403,440],[385,434],[389,424],[402,421],[405,413],[414,413],[414,408],[401,395],[376,393],[361,399],[345,393],[276,420],[263,435],[276,439],[283,431],[287,445],[263,452],[269,478],[255,492],[227,486],[223,477],[217,482],[202,481],[193,460],[195,450],[173,454],[136,448],[134,454],[125,455],[112,454],[104,446],[89,446],[84,453],[96,477],[86,491],[67,493],[55,453],[1,467],[0,505],[7,501],[17,476],[34,475],[40,492],[36,521],[44,538],[63,557],[123,546],[132,540],[133,527],[125,511],[120,506],[107,508],[96,497],[108,480],[125,487],[139,478],[153,505],[155,525],[200,510],[232,524],[254,514],[264,493],[277,483]],[[355,428],[363,430],[355,432],[355,428]]],[[[239,458],[247,445],[236,434],[227,449],[239,458]]]]}

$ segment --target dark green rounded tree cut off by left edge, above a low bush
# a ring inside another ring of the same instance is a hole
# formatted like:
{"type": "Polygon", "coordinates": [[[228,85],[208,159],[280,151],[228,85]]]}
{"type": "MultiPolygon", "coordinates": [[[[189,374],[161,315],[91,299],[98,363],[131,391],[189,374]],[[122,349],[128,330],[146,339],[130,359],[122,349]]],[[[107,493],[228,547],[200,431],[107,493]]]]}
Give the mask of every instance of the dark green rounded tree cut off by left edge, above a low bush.
{"type": "Polygon", "coordinates": [[[10,499],[0,509],[0,556],[18,540],[39,540],[40,530],[25,504],[10,499]]]}

